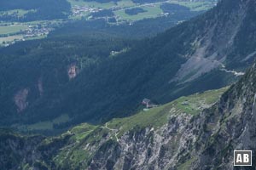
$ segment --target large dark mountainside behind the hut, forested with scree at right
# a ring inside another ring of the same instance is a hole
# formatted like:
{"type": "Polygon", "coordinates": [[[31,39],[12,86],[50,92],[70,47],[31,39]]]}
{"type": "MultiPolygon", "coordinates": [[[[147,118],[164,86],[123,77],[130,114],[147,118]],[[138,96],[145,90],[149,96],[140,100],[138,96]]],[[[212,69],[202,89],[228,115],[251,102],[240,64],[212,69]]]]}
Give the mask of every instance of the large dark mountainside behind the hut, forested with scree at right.
{"type": "Polygon", "coordinates": [[[77,90],[64,94],[65,110],[84,111],[87,119],[97,113],[98,121],[131,110],[145,97],[163,104],[224,86],[253,59],[255,30],[244,29],[253,26],[254,14],[253,1],[222,1],[207,14],[138,43],[96,70],[82,72],[69,84],[77,90]]]}

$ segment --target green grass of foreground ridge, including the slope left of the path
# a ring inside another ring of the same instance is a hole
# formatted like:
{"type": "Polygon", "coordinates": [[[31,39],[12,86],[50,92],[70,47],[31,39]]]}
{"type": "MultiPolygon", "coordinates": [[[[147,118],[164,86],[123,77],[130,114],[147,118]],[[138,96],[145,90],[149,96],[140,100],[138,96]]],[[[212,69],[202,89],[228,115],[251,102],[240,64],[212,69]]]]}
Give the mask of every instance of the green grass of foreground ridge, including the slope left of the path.
{"type": "MultiPolygon", "coordinates": [[[[113,141],[118,141],[119,137],[124,133],[139,131],[146,127],[157,130],[164,126],[172,115],[199,114],[203,109],[208,108],[217,102],[227,89],[228,88],[222,88],[207,91],[202,94],[193,94],[187,97],[182,97],[166,105],[160,105],[159,107],[150,109],[149,111],[140,111],[134,116],[113,119],[102,126],[91,126],[85,123],[73,127],[67,132],[67,134],[73,133],[73,137],[71,138],[74,140],[73,145],[72,147],[67,147],[61,150],[61,152],[54,158],[55,163],[62,168],[68,166],[75,168],[78,167],[80,163],[81,166],[86,166],[83,162],[90,161],[90,158],[94,156],[94,153],[91,153],[90,150],[83,150],[82,148],[84,145],[93,144],[94,147],[96,147],[96,150],[102,150],[100,141],[102,139],[104,140],[104,138],[108,138],[106,143],[112,143],[113,141]],[[188,102],[188,105],[183,105],[184,102],[188,102]],[[75,143],[75,141],[77,142],[75,143]]],[[[65,133],[62,135],[65,135],[65,133]]]]}

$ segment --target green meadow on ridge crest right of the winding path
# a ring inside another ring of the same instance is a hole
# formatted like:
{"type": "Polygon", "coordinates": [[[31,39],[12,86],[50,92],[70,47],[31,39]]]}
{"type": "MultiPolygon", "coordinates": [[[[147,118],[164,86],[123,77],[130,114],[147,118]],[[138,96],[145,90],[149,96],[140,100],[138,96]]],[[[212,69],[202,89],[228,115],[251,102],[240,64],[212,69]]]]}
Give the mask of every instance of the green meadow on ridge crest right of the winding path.
{"type": "Polygon", "coordinates": [[[154,127],[154,129],[157,129],[167,123],[170,114],[189,114],[194,116],[199,114],[203,109],[210,107],[218,101],[220,96],[227,89],[228,88],[221,88],[201,94],[181,97],[171,103],[160,105],[149,111],[140,111],[134,116],[114,118],[112,121],[107,122],[106,125],[108,125],[109,128],[118,129],[117,133],[119,135],[135,127],[154,127]]]}

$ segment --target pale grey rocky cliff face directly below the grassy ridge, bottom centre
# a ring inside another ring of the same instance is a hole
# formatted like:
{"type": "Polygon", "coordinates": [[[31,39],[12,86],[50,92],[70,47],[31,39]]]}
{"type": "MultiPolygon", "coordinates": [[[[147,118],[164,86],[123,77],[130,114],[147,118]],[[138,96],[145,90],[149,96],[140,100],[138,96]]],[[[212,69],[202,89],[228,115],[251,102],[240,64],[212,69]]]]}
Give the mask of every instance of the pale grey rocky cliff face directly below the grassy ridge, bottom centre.
{"type": "Polygon", "coordinates": [[[195,143],[195,134],[189,126],[191,118],[187,114],[170,116],[169,122],[158,130],[146,127],[125,133],[103,153],[97,151],[89,169],[148,170],[177,166],[190,144],[195,143]]]}

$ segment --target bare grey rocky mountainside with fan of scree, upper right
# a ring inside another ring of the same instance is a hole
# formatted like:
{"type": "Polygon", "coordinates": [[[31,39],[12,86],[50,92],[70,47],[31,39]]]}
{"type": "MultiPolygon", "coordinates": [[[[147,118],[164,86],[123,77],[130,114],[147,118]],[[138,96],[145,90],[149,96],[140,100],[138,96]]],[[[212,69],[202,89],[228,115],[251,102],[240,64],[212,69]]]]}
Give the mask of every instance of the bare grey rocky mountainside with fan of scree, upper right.
{"type": "Polygon", "coordinates": [[[239,69],[241,66],[237,65],[247,65],[247,61],[253,59],[255,49],[248,45],[245,51],[241,44],[237,44],[254,40],[253,35],[245,34],[245,27],[248,22],[254,25],[255,20],[251,17],[255,15],[255,7],[252,0],[223,0],[217,8],[201,17],[203,20],[197,20],[196,37],[191,43],[194,50],[186,56],[188,60],[172,81],[189,82],[216,68],[239,69]]]}

